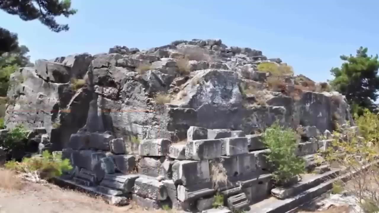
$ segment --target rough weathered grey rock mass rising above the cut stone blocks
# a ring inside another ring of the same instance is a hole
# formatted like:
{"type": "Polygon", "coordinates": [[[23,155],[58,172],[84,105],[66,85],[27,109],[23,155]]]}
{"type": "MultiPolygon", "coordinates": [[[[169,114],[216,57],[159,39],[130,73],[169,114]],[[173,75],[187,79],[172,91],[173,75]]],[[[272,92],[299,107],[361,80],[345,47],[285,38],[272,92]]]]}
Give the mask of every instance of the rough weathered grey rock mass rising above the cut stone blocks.
{"type": "MultiPolygon", "coordinates": [[[[115,46],[94,56],[39,60],[35,67],[12,75],[15,84],[8,97],[15,101],[7,107],[6,124],[44,126],[53,149],[59,150],[92,119],[87,117],[91,100],[97,103],[99,121],[89,123],[124,139],[176,141],[187,137],[190,126],[249,135],[275,121],[324,132],[336,122],[351,121],[340,94],[303,91],[295,100],[289,93],[269,91],[269,74],[257,71],[257,64],[264,61],[281,63],[267,60],[259,50],[227,47],[212,39],[175,41],[146,51],[115,46]],[[72,89],[70,79],[82,77],[86,85],[72,89]],[[241,85],[260,93],[246,94],[241,85]]],[[[294,82],[294,77],[286,77],[288,88],[296,86],[294,82]]]]}

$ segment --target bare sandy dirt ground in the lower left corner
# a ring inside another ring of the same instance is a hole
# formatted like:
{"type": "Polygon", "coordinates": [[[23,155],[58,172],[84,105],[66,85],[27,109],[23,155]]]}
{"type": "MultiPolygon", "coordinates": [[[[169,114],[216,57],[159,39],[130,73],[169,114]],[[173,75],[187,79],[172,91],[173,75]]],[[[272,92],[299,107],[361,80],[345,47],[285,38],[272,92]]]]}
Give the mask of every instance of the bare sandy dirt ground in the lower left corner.
{"type": "MultiPolygon", "coordinates": [[[[101,198],[62,189],[47,183],[24,182],[16,174],[0,170],[0,213],[143,213],[143,208],[130,204],[115,207],[101,198]]],[[[149,211],[152,212],[151,210],[149,211]]],[[[154,210],[154,213],[167,211],[154,210]]]]}

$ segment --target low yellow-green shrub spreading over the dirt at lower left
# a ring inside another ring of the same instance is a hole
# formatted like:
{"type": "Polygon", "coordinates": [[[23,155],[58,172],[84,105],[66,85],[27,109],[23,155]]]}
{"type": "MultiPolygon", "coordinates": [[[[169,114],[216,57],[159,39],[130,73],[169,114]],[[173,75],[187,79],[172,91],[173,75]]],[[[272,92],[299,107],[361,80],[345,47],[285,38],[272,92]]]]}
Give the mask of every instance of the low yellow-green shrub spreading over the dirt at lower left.
{"type": "Polygon", "coordinates": [[[45,150],[42,156],[34,156],[31,158],[23,158],[21,163],[16,161],[8,161],[5,168],[13,169],[19,172],[36,171],[43,179],[51,179],[60,176],[64,171],[72,169],[70,160],[62,160],[61,154],[53,156],[49,151],[45,150]]]}

